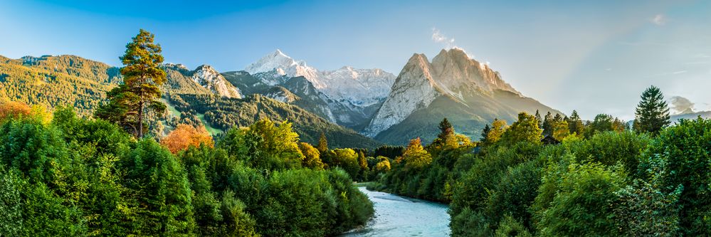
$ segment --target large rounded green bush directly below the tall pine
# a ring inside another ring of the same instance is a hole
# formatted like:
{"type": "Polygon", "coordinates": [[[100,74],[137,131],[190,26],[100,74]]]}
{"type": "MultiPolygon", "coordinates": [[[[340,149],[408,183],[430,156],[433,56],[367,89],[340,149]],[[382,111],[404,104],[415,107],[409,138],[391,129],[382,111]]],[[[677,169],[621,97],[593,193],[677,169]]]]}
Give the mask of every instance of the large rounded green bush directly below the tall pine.
{"type": "Polygon", "coordinates": [[[134,221],[136,233],[188,234],[195,222],[190,182],[176,157],[152,139],[143,139],[122,157],[125,186],[139,206],[134,221]]]}

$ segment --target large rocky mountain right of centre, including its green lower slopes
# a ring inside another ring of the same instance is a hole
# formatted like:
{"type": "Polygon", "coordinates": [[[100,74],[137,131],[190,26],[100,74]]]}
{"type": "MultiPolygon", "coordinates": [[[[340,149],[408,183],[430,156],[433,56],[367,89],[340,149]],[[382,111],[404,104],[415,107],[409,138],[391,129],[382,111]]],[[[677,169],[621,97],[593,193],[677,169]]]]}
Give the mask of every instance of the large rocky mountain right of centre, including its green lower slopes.
{"type": "Polygon", "coordinates": [[[558,112],[524,97],[488,65],[453,48],[431,62],[414,54],[362,133],[394,144],[414,137],[427,140],[447,117],[459,132],[476,136],[494,118],[512,122],[518,112],[536,110],[558,112]]]}

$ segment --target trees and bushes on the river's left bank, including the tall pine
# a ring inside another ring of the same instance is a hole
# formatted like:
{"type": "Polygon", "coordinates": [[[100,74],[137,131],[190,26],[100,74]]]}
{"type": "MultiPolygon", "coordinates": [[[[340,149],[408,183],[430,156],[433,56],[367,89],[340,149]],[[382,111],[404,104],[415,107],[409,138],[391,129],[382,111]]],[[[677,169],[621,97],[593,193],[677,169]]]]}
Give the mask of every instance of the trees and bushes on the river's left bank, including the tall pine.
{"type": "Polygon", "coordinates": [[[300,142],[291,122],[149,132],[167,109],[153,37],[127,44],[98,105],[0,96],[1,236],[333,236],[373,216],[352,181],[362,152],[300,142]]]}

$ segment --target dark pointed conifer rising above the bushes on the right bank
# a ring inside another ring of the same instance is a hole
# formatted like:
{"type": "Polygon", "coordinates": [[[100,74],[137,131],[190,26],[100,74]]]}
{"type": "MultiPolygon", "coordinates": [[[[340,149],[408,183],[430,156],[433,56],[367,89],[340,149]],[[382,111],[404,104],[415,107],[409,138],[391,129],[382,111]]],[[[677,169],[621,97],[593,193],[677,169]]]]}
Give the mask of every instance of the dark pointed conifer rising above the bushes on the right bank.
{"type": "Polygon", "coordinates": [[[664,95],[659,88],[652,85],[642,93],[641,98],[635,112],[634,128],[637,132],[658,134],[663,127],[670,124],[669,107],[664,101],[664,95]]]}

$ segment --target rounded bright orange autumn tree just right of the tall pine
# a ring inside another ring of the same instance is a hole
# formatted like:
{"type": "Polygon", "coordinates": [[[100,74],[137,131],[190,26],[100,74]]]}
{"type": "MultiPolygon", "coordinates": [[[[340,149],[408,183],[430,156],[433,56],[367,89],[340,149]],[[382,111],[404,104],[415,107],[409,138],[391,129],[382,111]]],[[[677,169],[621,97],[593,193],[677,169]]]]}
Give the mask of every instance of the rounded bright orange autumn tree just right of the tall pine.
{"type": "Polygon", "coordinates": [[[160,143],[173,154],[188,149],[190,146],[199,147],[200,144],[214,147],[212,137],[204,126],[193,127],[185,124],[178,125],[175,130],[161,139],[160,143]]]}

